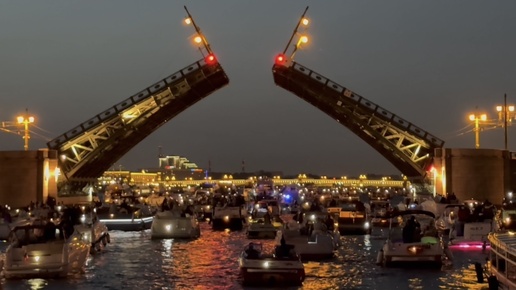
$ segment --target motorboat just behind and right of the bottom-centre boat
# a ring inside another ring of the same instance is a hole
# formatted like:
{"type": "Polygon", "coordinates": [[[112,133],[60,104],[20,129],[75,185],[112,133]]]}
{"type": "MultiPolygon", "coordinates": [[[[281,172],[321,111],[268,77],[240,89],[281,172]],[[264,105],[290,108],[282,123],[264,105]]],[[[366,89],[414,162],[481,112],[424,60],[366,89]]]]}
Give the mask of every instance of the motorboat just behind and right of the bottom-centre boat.
{"type": "Polygon", "coordinates": [[[302,216],[301,222],[290,221],[276,233],[275,244],[280,245],[281,239],[285,239],[288,244],[294,245],[302,260],[332,258],[340,246],[340,235],[325,224],[328,213],[307,212],[302,216]]]}

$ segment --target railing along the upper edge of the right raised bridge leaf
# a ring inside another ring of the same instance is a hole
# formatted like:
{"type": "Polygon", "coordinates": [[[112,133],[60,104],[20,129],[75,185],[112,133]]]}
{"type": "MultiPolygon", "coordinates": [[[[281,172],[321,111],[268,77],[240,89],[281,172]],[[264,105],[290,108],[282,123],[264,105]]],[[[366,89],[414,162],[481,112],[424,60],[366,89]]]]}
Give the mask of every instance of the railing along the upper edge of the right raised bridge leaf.
{"type": "MultiPolygon", "coordinates": [[[[428,133],[427,131],[417,127],[416,125],[412,124],[411,122],[395,115],[394,113],[390,112],[387,109],[384,109],[380,107],[379,105],[375,104],[374,102],[354,93],[351,90],[348,90],[347,88],[331,81],[330,79],[312,71],[311,69],[293,62],[292,69],[294,69],[297,72],[300,72],[307,77],[310,77],[311,79],[321,83],[322,85],[332,89],[333,91],[337,92],[341,97],[345,98],[346,100],[352,101],[353,103],[359,104],[363,108],[367,108],[370,112],[374,113],[376,117],[379,117],[387,122],[395,124],[398,128],[402,128],[406,130],[407,132],[410,132],[411,134],[418,136],[419,138],[426,140],[430,144],[433,144],[436,147],[442,147],[444,145],[444,141],[433,136],[432,134],[428,133]]],[[[337,105],[342,106],[344,103],[342,101],[338,101],[337,105]]]]}

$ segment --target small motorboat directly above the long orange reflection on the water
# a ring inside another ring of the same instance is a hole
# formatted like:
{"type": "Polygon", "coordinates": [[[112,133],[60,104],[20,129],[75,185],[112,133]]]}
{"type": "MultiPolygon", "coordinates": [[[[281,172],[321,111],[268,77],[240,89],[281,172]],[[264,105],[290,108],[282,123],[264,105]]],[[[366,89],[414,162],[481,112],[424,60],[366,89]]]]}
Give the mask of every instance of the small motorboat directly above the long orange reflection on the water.
{"type": "Polygon", "coordinates": [[[214,230],[242,230],[246,214],[242,206],[216,206],[213,209],[211,226],[214,230]]]}

